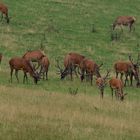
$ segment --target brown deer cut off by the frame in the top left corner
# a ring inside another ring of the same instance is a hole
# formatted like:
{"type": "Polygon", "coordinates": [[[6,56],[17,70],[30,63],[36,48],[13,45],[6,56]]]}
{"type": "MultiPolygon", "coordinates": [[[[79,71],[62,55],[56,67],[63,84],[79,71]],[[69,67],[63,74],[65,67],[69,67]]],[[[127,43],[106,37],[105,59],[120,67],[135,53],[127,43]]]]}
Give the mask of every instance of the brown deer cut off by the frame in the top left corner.
{"type": "Polygon", "coordinates": [[[7,23],[10,22],[9,17],[8,17],[8,7],[5,4],[0,3],[0,12],[2,13],[1,15],[1,21],[3,19],[3,15],[5,15],[7,23]]]}

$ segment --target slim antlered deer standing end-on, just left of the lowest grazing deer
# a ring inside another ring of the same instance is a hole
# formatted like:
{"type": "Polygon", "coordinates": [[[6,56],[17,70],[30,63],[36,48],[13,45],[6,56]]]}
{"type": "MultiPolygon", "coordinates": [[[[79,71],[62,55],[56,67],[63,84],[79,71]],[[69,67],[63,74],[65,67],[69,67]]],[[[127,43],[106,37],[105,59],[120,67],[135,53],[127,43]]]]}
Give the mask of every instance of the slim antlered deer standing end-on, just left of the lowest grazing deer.
{"type": "Polygon", "coordinates": [[[102,99],[103,99],[103,96],[104,96],[104,88],[105,88],[105,86],[107,84],[107,78],[109,77],[109,73],[110,73],[110,71],[107,71],[106,76],[98,77],[96,79],[96,85],[98,86],[98,88],[100,90],[100,95],[101,95],[102,99]]]}

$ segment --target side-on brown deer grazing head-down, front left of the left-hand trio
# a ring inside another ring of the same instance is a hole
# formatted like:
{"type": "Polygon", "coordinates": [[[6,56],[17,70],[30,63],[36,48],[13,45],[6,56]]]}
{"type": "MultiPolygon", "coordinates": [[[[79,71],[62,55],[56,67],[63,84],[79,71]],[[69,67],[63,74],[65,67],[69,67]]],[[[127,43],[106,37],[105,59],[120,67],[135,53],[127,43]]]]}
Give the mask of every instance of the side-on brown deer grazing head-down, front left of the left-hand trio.
{"type": "Polygon", "coordinates": [[[26,60],[21,57],[13,57],[9,60],[9,65],[11,69],[11,72],[10,72],[11,82],[12,82],[12,75],[13,75],[14,70],[15,70],[15,76],[18,83],[19,83],[19,79],[18,79],[19,70],[22,70],[24,72],[23,83],[25,83],[25,79],[26,81],[28,80],[27,73],[29,73],[30,76],[33,77],[35,84],[37,84],[37,82],[40,79],[39,74],[34,71],[32,64],[29,60],[26,60]]]}

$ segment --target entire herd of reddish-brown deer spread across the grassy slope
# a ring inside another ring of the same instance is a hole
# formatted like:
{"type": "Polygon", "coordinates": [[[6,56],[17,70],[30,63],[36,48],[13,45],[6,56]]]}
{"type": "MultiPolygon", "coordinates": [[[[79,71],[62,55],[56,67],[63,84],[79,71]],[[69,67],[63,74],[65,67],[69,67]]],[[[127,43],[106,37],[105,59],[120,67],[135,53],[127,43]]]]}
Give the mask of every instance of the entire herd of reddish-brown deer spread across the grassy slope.
{"type": "MultiPolygon", "coordinates": [[[[1,20],[3,19],[3,15],[5,15],[5,19],[7,23],[10,22],[10,18],[8,16],[8,8],[4,4],[0,4],[0,12],[2,13],[1,20]]],[[[112,29],[114,30],[116,26],[128,26],[130,31],[132,29],[133,24],[136,19],[133,16],[119,16],[116,18],[112,25],[112,29]]],[[[122,30],[123,31],[123,30],[122,30]]],[[[2,54],[0,54],[0,62],[2,59],[2,54]]],[[[139,60],[140,55],[138,55],[137,63],[134,63],[131,56],[129,56],[129,61],[118,61],[114,64],[114,69],[116,72],[116,77],[109,80],[109,85],[112,90],[112,98],[113,98],[113,90],[115,90],[116,98],[120,100],[124,99],[126,94],[123,93],[123,87],[126,86],[128,82],[128,78],[130,79],[130,85],[132,86],[132,81],[135,78],[136,86],[140,86],[140,73],[139,73],[139,60]],[[120,74],[120,78],[118,78],[118,74],[120,74]],[[125,75],[125,81],[123,82],[123,75],[125,75]],[[134,78],[133,78],[134,77],[134,78]],[[123,84],[124,83],[124,84],[123,84]]],[[[96,78],[96,85],[98,86],[101,94],[101,98],[104,95],[104,88],[107,85],[107,79],[110,75],[110,71],[107,71],[107,74],[102,77],[100,74],[100,67],[103,64],[97,65],[93,60],[86,58],[85,56],[78,53],[68,53],[64,58],[64,69],[62,69],[59,65],[59,60],[56,59],[56,67],[59,69],[59,74],[61,79],[64,79],[68,74],[70,74],[71,80],[73,79],[73,72],[78,77],[80,75],[81,82],[84,79],[90,80],[92,85],[93,83],[93,75],[96,78]]],[[[10,76],[12,82],[13,71],[15,70],[15,76],[18,79],[18,71],[22,70],[24,72],[23,83],[25,80],[28,80],[27,73],[34,79],[34,82],[37,82],[43,77],[43,79],[48,79],[48,68],[50,65],[48,57],[42,53],[40,50],[28,51],[22,57],[13,57],[9,61],[10,65],[10,76]],[[35,63],[38,63],[36,67],[35,63]],[[39,69],[40,68],[40,69],[39,69]],[[39,69],[39,71],[38,71],[39,69]]]]}

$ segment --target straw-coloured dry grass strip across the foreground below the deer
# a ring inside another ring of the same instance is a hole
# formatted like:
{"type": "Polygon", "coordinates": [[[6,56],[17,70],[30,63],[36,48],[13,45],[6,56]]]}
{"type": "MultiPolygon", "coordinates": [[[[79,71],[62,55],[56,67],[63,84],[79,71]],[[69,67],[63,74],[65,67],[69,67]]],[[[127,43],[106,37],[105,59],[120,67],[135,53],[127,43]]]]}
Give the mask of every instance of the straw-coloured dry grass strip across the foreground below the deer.
{"type": "MultiPolygon", "coordinates": [[[[116,140],[124,135],[128,139],[140,138],[137,101],[112,101],[110,97],[101,100],[83,93],[71,96],[7,86],[0,89],[0,122],[2,126],[8,124],[0,128],[3,138],[11,136],[4,135],[7,129],[15,133],[16,139],[27,129],[31,132],[28,138],[38,139],[111,139],[112,135],[116,140]]],[[[27,133],[23,137],[27,138],[27,133]]]]}

